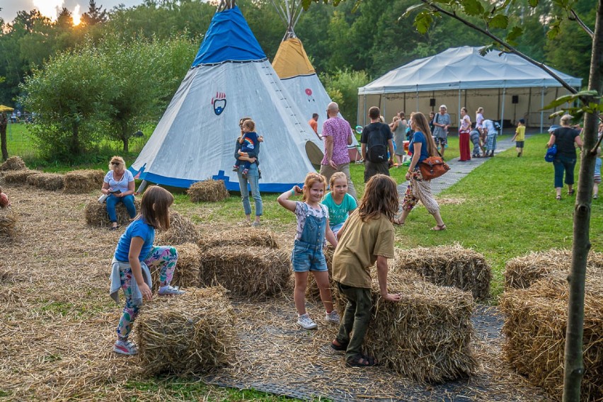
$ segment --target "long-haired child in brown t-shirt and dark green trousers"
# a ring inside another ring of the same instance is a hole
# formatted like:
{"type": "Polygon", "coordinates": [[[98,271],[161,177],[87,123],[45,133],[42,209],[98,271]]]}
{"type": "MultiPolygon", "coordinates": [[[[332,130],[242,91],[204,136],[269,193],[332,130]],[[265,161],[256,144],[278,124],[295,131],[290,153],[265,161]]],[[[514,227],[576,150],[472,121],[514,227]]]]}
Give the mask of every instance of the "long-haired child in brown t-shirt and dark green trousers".
{"type": "Polygon", "coordinates": [[[387,292],[387,259],[394,258],[394,225],[391,222],[396,212],[396,182],[378,174],[369,180],[360,207],[352,212],[340,231],[340,243],[333,255],[333,280],[337,282],[339,292],[345,294],[348,304],[331,348],[345,350],[348,366],[377,364],[374,358],[362,355],[372,309],[370,268],[375,261],[381,297],[387,302],[400,300],[399,294],[387,292]]]}

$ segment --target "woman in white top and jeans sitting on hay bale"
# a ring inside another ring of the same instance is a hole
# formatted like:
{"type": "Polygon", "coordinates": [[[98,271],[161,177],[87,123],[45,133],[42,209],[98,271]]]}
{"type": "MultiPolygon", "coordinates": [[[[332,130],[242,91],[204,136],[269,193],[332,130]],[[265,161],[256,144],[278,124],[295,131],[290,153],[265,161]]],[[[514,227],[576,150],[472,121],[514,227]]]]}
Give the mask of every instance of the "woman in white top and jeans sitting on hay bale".
{"type": "Polygon", "coordinates": [[[125,168],[125,161],[121,156],[113,156],[109,163],[109,171],[103,181],[101,193],[107,197],[107,213],[111,221],[111,230],[117,229],[117,212],[115,206],[123,202],[130,219],[136,217],[134,206],[134,176],[125,168]]]}

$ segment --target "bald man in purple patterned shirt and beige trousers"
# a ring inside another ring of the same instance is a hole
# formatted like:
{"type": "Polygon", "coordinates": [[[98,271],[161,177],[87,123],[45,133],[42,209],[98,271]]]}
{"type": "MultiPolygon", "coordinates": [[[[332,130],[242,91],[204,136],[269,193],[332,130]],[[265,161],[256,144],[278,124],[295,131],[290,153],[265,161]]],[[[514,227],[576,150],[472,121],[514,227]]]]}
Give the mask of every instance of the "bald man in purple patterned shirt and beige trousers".
{"type": "Polygon", "coordinates": [[[348,193],[358,199],[356,188],[350,176],[350,154],[348,145],[352,145],[352,127],[345,119],[339,117],[339,106],[331,102],[327,106],[328,119],[323,123],[323,139],[325,142],[325,156],[321,161],[321,175],[327,181],[335,172],[343,172],[348,178],[348,193]]]}

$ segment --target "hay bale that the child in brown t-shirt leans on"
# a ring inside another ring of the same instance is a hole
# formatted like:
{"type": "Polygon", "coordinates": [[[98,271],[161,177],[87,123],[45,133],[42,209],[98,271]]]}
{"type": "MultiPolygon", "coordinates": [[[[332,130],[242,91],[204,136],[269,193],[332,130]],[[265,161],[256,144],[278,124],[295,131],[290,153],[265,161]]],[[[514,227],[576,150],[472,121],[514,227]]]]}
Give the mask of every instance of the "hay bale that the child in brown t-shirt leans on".
{"type": "MultiPolygon", "coordinates": [[[[372,317],[364,350],[381,364],[415,381],[440,383],[467,377],[477,366],[471,348],[473,297],[454,287],[425,282],[415,272],[389,272],[388,289],[400,302],[381,299],[372,268],[372,317]]],[[[345,296],[335,292],[341,316],[345,296]]]]}

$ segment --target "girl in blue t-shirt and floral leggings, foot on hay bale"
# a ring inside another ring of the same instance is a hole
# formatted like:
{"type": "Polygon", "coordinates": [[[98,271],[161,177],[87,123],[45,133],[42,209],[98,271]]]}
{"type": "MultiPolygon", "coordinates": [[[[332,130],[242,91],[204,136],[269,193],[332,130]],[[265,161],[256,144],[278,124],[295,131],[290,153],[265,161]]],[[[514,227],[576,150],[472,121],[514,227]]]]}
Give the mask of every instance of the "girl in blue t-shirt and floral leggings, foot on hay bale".
{"type": "Polygon", "coordinates": [[[115,248],[111,264],[110,295],[119,302],[119,290],[124,291],[125,307],[117,325],[117,341],[113,351],[121,355],[135,355],[136,345],[128,340],[132,324],[138,316],[142,299],[151,300],[150,268],[160,270],[158,294],[183,294],[170,286],[178,252],[170,246],[153,246],[155,229],[169,229],[169,208],[173,195],[161,187],[151,187],[142,196],[139,215],[127,226],[115,248]]]}

